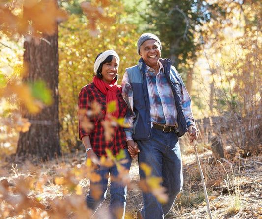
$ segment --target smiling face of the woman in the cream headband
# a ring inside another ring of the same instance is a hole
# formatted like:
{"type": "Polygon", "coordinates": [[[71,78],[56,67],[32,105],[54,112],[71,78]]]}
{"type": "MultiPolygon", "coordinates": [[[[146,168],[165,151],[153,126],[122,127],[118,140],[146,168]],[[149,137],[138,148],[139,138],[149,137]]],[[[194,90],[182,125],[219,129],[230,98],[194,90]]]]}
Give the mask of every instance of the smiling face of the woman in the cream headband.
{"type": "Polygon", "coordinates": [[[115,56],[113,56],[111,62],[106,62],[102,66],[102,81],[107,84],[110,84],[111,81],[115,78],[118,72],[118,63],[115,56]]]}

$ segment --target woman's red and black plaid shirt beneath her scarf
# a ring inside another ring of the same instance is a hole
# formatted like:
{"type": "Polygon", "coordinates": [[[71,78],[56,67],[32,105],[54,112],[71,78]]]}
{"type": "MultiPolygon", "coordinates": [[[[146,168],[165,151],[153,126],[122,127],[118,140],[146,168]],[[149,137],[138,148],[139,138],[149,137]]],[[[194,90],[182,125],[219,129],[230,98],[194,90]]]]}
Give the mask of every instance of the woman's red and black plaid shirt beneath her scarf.
{"type": "MultiPolygon", "coordinates": [[[[121,95],[121,86],[118,86],[117,91],[117,98],[118,98],[118,105],[119,105],[119,118],[124,117],[127,111],[127,105],[122,98],[121,95]]],[[[82,128],[82,120],[79,119],[79,138],[82,140],[83,136],[89,135],[91,146],[94,152],[98,156],[106,155],[106,148],[109,148],[113,155],[119,153],[120,149],[126,148],[126,137],[123,130],[123,127],[118,126],[115,128],[115,134],[112,141],[106,142],[105,135],[104,135],[104,127],[102,122],[105,118],[106,114],[106,95],[104,95],[98,88],[94,85],[94,83],[90,83],[84,86],[78,97],[78,109],[79,114],[85,111],[85,116],[92,122],[93,129],[87,132],[87,130],[82,128]],[[101,112],[94,116],[87,116],[88,111],[91,110],[91,104],[93,102],[97,102],[101,106],[101,112]]],[[[79,115],[79,118],[81,116],[79,115]]],[[[84,122],[83,122],[83,126],[84,122]]]]}

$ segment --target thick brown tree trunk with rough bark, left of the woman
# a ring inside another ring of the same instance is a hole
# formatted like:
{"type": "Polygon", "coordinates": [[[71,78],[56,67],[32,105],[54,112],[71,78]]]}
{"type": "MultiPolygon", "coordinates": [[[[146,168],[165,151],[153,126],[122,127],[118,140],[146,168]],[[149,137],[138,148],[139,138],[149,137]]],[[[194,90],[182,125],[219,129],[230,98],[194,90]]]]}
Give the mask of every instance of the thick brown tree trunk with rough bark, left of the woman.
{"type": "Polygon", "coordinates": [[[28,132],[19,134],[17,156],[28,156],[52,159],[61,155],[59,122],[58,122],[58,28],[52,36],[44,35],[43,39],[32,38],[24,43],[24,65],[28,75],[25,81],[37,80],[46,82],[52,91],[53,104],[46,106],[38,114],[24,111],[31,126],[28,132]]]}

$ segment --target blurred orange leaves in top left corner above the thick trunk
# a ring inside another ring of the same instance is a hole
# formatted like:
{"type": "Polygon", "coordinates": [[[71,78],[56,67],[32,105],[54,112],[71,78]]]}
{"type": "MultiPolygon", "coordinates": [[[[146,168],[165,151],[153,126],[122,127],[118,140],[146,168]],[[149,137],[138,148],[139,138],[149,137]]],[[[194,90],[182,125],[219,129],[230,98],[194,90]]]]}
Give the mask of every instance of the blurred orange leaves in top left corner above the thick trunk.
{"type": "MultiPolygon", "coordinates": [[[[2,5],[1,5],[2,6],[2,5]]],[[[1,7],[2,30],[4,33],[29,34],[41,37],[53,35],[56,23],[68,18],[65,11],[58,8],[55,0],[11,1],[1,7]]]]}

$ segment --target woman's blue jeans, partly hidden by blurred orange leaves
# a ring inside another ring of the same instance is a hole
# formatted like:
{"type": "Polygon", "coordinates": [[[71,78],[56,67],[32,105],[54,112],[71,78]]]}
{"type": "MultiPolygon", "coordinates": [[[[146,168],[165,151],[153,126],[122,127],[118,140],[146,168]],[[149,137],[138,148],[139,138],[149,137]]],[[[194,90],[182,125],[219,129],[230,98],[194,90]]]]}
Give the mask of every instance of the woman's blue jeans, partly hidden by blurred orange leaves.
{"type": "MultiPolygon", "coordinates": [[[[126,162],[121,165],[129,170],[132,160],[127,149],[124,150],[126,154],[126,162]]],[[[99,182],[92,182],[92,179],[90,179],[90,191],[85,198],[87,207],[96,211],[100,204],[106,199],[108,178],[110,174],[111,182],[109,210],[111,212],[111,216],[109,216],[109,218],[124,219],[127,186],[123,185],[120,180],[116,179],[119,175],[116,165],[112,167],[100,166],[99,169],[94,171],[101,176],[101,180],[99,182]]]]}

